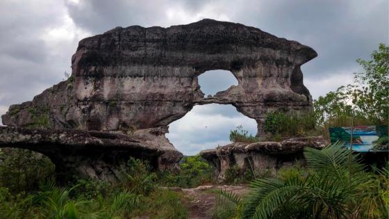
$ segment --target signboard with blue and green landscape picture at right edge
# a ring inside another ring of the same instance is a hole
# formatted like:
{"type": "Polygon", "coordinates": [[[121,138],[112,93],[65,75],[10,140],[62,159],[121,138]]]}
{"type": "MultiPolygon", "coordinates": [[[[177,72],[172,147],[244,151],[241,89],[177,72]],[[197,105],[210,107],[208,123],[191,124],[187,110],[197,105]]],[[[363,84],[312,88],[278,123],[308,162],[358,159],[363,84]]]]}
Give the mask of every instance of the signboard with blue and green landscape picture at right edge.
{"type": "MultiPolygon", "coordinates": [[[[329,128],[331,143],[342,140],[350,147],[351,127],[329,128]]],[[[353,150],[356,152],[388,152],[388,126],[356,126],[353,131],[353,150]]]]}

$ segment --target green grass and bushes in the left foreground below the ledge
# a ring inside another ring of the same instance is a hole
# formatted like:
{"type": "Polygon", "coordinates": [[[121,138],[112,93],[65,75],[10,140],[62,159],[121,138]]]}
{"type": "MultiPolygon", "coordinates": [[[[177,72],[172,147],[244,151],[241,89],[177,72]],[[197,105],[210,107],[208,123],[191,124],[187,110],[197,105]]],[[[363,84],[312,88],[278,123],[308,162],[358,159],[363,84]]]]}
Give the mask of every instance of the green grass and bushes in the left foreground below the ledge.
{"type": "MultiPolygon", "coordinates": [[[[18,154],[2,157],[0,166],[0,218],[188,217],[182,195],[158,188],[156,173],[138,159],[129,159],[116,184],[80,179],[75,186],[60,187],[53,181],[43,181],[50,175],[41,172],[39,164],[47,158],[21,149],[12,153],[18,154]],[[17,159],[22,162],[9,166],[17,159]],[[17,184],[19,181],[22,184],[17,184]]],[[[53,164],[46,163],[42,168],[49,166],[53,164]]]]}

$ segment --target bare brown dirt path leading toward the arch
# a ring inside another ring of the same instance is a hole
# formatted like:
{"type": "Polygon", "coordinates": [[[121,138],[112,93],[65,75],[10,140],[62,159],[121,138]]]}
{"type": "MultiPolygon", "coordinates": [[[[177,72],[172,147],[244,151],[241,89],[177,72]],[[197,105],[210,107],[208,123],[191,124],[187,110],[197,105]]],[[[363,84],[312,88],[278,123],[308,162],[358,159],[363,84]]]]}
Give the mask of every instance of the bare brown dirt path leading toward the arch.
{"type": "Polygon", "coordinates": [[[197,188],[173,188],[178,192],[184,193],[188,199],[189,218],[205,219],[212,218],[210,211],[215,206],[215,194],[211,192],[213,189],[222,188],[227,191],[233,191],[238,195],[243,195],[247,191],[247,186],[199,186],[197,188]]]}

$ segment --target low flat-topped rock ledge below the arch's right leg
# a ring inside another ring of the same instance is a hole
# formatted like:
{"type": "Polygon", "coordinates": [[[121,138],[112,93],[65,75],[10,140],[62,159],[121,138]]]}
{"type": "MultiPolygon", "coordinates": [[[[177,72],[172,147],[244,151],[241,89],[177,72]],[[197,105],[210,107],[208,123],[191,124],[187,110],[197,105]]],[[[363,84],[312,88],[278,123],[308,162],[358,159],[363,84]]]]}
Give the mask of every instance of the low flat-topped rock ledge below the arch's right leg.
{"type": "Polygon", "coordinates": [[[270,172],[290,166],[296,161],[304,163],[304,147],[321,149],[329,142],[322,136],[288,138],[281,142],[231,143],[200,152],[201,157],[215,166],[217,178],[223,180],[226,170],[237,165],[241,174],[246,170],[270,172]]]}

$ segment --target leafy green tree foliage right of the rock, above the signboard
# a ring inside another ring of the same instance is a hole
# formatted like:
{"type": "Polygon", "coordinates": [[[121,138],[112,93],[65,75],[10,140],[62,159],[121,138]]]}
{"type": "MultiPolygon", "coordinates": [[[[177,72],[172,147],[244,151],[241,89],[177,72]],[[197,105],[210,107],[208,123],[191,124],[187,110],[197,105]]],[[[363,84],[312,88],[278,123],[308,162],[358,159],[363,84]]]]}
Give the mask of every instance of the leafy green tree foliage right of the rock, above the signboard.
{"type": "Polygon", "coordinates": [[[356,60],[365,72],[354,73],[354,83],[341,86],[313,102],[317,122],[344,125],[347,118],[381,124],[389,116],[389,47],[379,44],[372,60],[356,60]]]}

